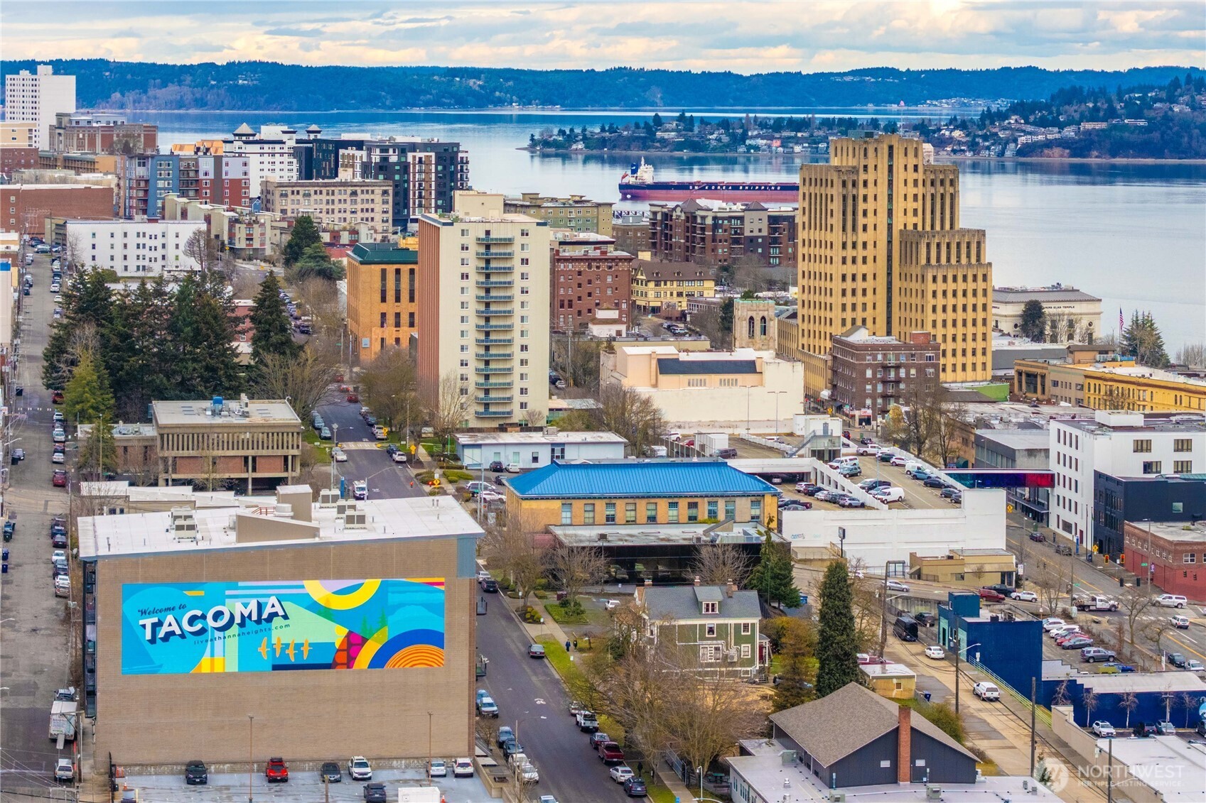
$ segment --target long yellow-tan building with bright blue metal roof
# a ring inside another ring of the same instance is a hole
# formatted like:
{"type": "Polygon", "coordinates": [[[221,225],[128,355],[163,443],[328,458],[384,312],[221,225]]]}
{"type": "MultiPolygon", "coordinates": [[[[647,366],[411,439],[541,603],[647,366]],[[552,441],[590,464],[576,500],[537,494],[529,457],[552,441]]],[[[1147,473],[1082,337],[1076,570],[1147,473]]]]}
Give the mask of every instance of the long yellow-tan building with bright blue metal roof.
{"type": "Polygon", "coordinates": [[[507,517],[526,532],[550,526],[732,521],[774,529],[774,486],[719,459],[562,463],[508,477],[507,517]]]}

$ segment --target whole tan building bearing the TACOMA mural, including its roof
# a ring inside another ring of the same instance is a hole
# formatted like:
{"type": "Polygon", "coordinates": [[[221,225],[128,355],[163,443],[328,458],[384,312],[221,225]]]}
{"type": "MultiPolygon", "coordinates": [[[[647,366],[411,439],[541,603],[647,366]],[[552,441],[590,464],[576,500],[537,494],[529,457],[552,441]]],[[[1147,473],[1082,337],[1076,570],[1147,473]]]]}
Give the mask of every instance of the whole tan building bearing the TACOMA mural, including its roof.
{"type": "Polygon", "coordinates": [[[93,772],[473,755],[481,529],[450,497],[311,499],[80,518],[93,772]]]}

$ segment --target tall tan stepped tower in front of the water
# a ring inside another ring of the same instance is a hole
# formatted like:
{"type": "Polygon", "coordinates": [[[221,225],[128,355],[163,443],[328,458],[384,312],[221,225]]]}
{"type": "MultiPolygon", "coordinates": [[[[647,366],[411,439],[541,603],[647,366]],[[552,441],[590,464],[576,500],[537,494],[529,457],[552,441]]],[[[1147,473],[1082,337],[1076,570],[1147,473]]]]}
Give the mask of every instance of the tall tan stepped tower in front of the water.
{"type": "Polygon", "coordinates": [[[831,140],[830,164],[800,169],[798,252],[806,362],[862,326],[901,341],[932,333],[943,382],[991,376],[984,231],[959,227],[959,168],[933,164],[930,146],[901,134],[831,140]]]}

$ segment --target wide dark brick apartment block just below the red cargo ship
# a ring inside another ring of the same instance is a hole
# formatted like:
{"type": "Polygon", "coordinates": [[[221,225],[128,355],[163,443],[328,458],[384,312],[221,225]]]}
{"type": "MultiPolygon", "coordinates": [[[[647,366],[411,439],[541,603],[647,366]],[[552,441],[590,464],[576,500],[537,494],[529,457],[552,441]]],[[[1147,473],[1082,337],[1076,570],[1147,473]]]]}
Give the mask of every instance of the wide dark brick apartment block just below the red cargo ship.
{"type": "Polygon", "coordinates": [[[691,199],[649,205],[654,259],[701,265],[796,264],[796,209],[691,199]]]}

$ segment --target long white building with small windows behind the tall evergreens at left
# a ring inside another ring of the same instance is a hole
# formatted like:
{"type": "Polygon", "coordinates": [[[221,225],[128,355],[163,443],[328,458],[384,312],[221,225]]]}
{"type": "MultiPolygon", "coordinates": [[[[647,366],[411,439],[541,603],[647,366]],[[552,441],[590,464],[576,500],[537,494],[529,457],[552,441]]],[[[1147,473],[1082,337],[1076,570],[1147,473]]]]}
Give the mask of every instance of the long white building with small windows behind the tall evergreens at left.
{"type": "Polygon", "coordinates": [[[198,270],[185,253],[205,221],[66,221],[66,241],[89,266],[107,268],[118,279],[153,279],[198,270]]]}

